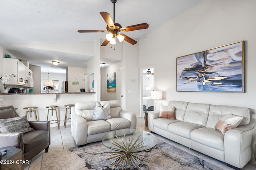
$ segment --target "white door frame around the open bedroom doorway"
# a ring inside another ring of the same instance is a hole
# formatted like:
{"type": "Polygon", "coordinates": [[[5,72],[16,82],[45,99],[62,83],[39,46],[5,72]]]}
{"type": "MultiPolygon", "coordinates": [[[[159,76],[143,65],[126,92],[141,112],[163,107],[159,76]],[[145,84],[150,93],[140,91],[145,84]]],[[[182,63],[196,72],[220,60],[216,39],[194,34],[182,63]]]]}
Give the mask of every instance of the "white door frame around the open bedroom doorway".
{"type": "MultiPolygon", "coordinates": [[[[139,115],[139,117],[144,117],[144,115],[143,115],[143,70],[146,70],[148,68],[154,68],[154,65],[140,68],[140,115],[139,115]]],[[[155,87],[155,78],[154,78],[153,89],[154,89],[154,87],[155,87]]]]}

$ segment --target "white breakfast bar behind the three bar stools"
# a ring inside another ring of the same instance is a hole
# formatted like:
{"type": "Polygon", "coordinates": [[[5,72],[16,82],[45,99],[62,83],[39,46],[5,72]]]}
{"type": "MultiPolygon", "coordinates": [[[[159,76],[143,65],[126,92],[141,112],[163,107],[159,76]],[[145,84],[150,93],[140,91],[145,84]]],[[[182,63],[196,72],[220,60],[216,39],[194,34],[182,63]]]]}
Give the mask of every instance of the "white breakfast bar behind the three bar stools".
{"type": "MultiPolygon", "coordinates": [[[[17,107],[17,113],[20,116],[26,115],[24,107],[34,106],[36,109],[38,121],[45,121],[47,119],[46,106],[58,106],[57,113],[60,120],[60,125],[64,125],[65,113],[67,104],[76,104],[76,102],[95,101],[95,92],[71,92],[71,93],[28,93],[28,94],[0,94],[0,106],[13,105],[17,107]]],[[[70,118],[70,115],[68,115],[70,118]]],[[[32,115],[30,121],[36,121],[36,117],[32,115]]],[[[69,125],[70,122],[67,122],[69,125]]],[[[57,123],[51,124],[57,126],[57,123]]]]}

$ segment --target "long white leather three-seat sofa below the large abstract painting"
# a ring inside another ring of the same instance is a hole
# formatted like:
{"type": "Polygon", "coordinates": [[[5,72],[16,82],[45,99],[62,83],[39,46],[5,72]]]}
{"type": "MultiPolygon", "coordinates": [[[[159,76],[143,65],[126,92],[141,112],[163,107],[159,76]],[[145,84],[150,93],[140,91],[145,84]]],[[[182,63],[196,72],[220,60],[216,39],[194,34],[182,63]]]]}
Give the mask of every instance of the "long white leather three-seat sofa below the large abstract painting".
{"type": "Polygon", "coordinates": [[[234,169],[243,168],[253,157],[256,140],[256,114],[248,108],[170,101],[175,119],[148,113],[148,129],[186,147],[211,156],[234,169]],[[242,116],[242,122],[224,135],[214,126],[226,114],[242,116]]]}

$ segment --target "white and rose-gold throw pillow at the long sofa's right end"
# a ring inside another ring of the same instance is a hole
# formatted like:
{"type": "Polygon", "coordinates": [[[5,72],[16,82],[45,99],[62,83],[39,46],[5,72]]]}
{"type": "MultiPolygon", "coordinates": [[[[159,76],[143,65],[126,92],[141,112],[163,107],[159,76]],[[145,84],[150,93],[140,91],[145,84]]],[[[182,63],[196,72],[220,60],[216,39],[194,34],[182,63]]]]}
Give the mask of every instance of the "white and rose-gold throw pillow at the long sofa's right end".
{"type": "Polygon", "coordinates": [[[215,125],[215,129],[225,135],[226,131],[232,128],[238,127],[241,121],[244,119],[242,116],[235,116],[230,114],[224,115],[220,121],[215,125]]]}

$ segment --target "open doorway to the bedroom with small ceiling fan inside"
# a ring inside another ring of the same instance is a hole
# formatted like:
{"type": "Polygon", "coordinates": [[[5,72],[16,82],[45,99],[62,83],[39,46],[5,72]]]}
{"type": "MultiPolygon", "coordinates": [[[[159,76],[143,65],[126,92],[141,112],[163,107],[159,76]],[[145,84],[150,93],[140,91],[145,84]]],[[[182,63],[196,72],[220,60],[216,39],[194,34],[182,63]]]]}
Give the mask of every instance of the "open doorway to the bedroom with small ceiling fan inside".
{"type": "Polygon", "coordinates": [[[151,92],[154,90],[154,66],[140,69],[140,117],[144,117],[146,111],[154,110],[154,100],[151,92]]]}

